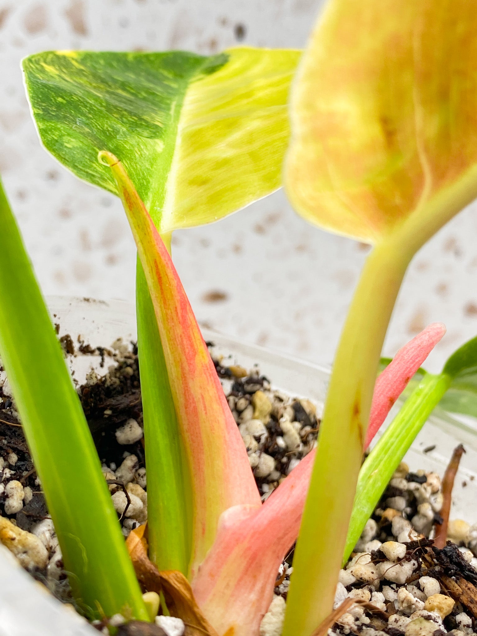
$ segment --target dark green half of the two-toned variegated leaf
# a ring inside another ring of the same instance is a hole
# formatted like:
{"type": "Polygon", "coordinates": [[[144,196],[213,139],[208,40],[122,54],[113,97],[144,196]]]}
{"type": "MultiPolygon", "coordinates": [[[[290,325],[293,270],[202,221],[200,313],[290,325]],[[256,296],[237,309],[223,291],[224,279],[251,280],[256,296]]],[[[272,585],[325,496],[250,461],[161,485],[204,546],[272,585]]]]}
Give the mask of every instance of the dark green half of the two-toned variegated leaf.
{"type": "Polygon", "coordinates": [[[151,171],[160,173],[161,163],[169,170],[166,137],[204,60],[183,52],[31,55],[23,68],[41,141],[80,179],[116,194],[110,172],[97,162],[98,152],[110,149],[149,200],[151,171]]]}

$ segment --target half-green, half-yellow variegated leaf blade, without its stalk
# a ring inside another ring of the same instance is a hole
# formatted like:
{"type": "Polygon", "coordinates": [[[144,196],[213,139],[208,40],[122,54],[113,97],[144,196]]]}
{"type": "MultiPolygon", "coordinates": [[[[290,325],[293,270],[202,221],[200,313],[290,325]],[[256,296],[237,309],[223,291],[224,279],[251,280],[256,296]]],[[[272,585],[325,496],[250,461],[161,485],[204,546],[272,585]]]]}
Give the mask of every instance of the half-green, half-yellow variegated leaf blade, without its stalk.
{"type": "Polygon", "coordinates": [[[24,60],[46,149],[116,193],[118,156],[158,230],[210,223],[276,190],[300,52],[46,52],[24,60]]]}

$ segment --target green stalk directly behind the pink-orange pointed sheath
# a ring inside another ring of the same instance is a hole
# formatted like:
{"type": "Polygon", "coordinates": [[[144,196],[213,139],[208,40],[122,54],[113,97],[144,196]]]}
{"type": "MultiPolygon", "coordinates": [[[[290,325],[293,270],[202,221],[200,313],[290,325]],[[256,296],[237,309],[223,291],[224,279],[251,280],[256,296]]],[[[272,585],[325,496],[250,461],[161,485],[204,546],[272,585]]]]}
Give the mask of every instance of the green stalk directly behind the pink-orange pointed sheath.
{"type": "Polygon", "coordinates": [[[148,470],[149,558],[160,570],[187,574],[190,488],[162,342],[142,265],[136,268],[137,347],[148,470]]]}

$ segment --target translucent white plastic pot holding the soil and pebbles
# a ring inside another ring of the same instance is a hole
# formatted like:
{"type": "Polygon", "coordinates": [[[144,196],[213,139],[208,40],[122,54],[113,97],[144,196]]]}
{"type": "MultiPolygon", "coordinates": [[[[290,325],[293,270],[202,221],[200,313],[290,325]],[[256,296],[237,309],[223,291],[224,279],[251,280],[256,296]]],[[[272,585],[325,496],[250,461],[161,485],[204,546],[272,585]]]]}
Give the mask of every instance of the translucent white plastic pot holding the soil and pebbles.
{"type": "MultiPolygon", "coordinates": [[[[130,303],[60,296],[47,300],[54,322],[60,324],[60,335],[69,333],[75,343],[78,335],[92,347],[109,347],[118,337],[135,340],[135,307],[130,303]]],[[[203,333],[205,340],[214,342],[216,350],[225,356],[225,363],[230,360],[230,364],[241,364],[247,369],[258,364],[274,388],[323,403],[329,368],[246,345],[208,329],[203,333]]],[[[83,381],[92,364],[99,373],[104,373],[99,361],[99,357],[77,356],[73,366],[78,381],[83,381]]],[[[106,359],[106,369],[107,364],[106,359]]],[[[431,417],[404,459],[411,470],[433,470],[442,476],[453,448],[459,443],[464,444],[467,452],[455,480],[451,518],[474,523],[477,522],[477,431],[471,425],[462,424],[446,413],[431,417]],[[433,445],[434,450],[424,453],[425,448],[433,445]]],[[[94,636],[97,633],[36,583],[17,565],[8,550],[0,546],[0,636],[94,636]]]]}

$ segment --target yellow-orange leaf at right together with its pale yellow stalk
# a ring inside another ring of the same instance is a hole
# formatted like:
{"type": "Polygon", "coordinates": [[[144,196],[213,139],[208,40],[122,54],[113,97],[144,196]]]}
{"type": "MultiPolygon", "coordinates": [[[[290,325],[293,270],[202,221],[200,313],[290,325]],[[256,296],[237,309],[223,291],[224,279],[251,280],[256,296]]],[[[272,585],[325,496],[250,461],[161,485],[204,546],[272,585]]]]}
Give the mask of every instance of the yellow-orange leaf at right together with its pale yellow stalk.
{"type": "Polygon", "coordinates": [[[378,359],[408,263],[477,195],[476,28],[468,0],[331,0],[301,59],[287,193],[312,223],[375,247],[333,364],[284,636],[309,636],[333,605],[378,359]]]}

